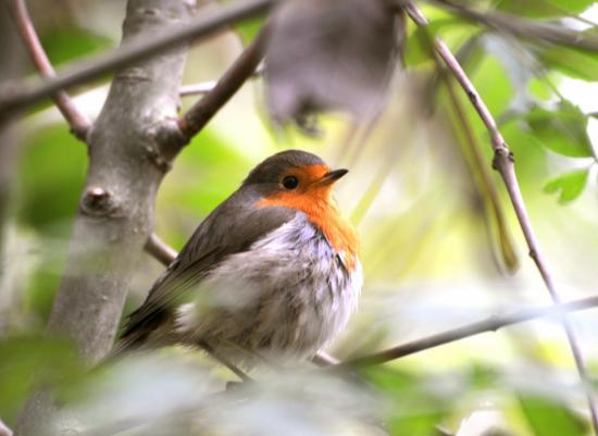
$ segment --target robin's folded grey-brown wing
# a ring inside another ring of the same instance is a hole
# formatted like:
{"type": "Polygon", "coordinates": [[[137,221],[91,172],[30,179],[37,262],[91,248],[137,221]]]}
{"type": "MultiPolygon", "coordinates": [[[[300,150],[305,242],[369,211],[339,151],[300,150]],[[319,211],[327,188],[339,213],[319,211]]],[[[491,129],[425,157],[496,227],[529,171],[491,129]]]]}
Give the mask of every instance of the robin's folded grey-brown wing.
{"type": "Polygon", "coordinates": [[[296,211],[281,207],[256,208],[237,191],[196,229],[177,259],[153,284],[139,309],[133,312],[123,340],[144,340],[182,303],[190,290],[227,256],[242,252],[259,238],[290,221],[296,211]]]}

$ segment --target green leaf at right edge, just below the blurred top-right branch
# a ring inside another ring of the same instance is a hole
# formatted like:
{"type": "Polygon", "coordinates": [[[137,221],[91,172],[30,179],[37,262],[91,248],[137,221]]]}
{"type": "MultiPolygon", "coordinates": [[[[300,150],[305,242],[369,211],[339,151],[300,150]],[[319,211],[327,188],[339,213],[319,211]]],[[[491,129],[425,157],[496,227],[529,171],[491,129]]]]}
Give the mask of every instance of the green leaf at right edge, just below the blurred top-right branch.
{"type": "Polygon", "coordinates": [[[573,78],[598,80],[598,54],[563,46],[549,46],[539,54],[549,68],[573,78]]]}

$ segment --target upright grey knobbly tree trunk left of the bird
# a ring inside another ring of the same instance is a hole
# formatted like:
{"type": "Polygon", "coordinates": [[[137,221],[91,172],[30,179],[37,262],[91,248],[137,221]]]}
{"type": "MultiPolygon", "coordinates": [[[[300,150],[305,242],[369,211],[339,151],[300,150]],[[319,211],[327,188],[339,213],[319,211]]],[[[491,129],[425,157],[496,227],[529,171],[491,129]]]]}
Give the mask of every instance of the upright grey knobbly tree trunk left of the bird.
{"type": "MultiPolygon", "coordinates": [[[[129,0],[123,43],[189,18],[192,5],[129,0]]],[[[180,148],[176,115],[186,52],[178,48],[119,72],[89,133],[87,180],[48,332],[73,338],[90,364],[112,346],[132,271],[153,227],[158,187],[180,148]]],[[[17,435],[65,429],[52,420],[50,397],[32,396],[17,435]]]]}

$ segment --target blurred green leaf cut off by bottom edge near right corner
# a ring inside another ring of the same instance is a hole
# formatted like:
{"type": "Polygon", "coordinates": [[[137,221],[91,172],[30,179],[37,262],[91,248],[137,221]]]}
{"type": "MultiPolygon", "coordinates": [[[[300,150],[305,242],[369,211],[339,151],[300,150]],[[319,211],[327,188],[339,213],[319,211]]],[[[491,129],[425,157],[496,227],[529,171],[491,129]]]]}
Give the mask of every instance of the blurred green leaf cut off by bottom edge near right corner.
{"type": "Polygon", "coordinates": [[[584,436],[587,424],[565,404],[539,396],[519,397],[527,424],[536,436],[584,436]]]}

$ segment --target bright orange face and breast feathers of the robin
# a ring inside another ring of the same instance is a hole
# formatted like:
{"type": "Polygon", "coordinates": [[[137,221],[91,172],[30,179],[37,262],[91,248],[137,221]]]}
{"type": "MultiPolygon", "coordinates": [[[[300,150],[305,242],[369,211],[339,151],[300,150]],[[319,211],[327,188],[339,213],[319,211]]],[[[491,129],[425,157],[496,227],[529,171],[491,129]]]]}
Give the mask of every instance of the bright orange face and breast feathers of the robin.
{"type": "Polygon", "coordinates": [[[341,215],[332,198],[333,184],[319,183],[328,171],[326,165],[292,169],[284,176],[296,176],[299,186],[294,190],[279,190],[264,197],[257,205],[283,205],[303,212],[322,231],[335,251],[344,258],[347,269],[352,272],[357,264],[359,240],[353,226],[341,215]]]}

